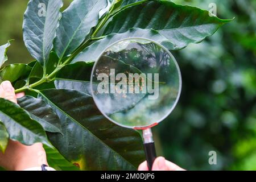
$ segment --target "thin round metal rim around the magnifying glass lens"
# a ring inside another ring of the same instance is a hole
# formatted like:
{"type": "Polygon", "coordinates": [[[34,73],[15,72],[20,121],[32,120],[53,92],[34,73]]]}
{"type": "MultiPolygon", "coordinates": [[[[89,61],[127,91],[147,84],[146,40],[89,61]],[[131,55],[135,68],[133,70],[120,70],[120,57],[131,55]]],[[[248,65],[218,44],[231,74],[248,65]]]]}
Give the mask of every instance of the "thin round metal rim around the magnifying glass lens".
{"type": "Polygon", "coordinates": [[[97,61],[95,61],[94,65],[93,65],[93,69],[92,69],[92,73],[90,75],[90,91],[92,93],[92,97],[93,97],[93,101],[95,102],[96,106],[98,107],[98,109],[100,110],[100,112],[106,117],[109,119],[109,121],[115,123],[116,125],[118,126],[122,126],[122,127],[126,127],[126,128],[129,128],[129,129],[137,129],[137,130],[145,130],[145,129],[148,129],[148,128],[151,128],[153,126],[156,126],[158,125],[158,123],[162,122],[164,119],[166,119],[168,117],[168,115],[170,115],[172,113],[172,111],[175,109],[176,105],[177,105],[177,102],[179,101],[179,98],[180,98],[180,94],[181,94],[181,90],[182,90],[182,78],[181,78],[181,72],[180,72],[180,68],[179,68],[179,65],[177,64],[177,61],[175,59],[175,57],[172,55],[172,53],[164,46],[162,46],[161,44],[159,44],[158,42],[155,42],[154,40],[151,40],[151,39],[147,39],[147,38],[140,38],[140,37],[130,37],[130,38],[125,38],[125,39],[120,39],[116,42],[114,42],[113,44],[110,44],[110,46],[108,46],[107,48],[104,49],[104,51],[102,51],[102,53],[100,54],[100,56],[98,56],[98,59],[97,61]],[[102,111],[100,109],[100,107],[98,106],[97,102],[96,102],[96,98],[93,94],[93,85],[92,85],[92,80],[93,80],[93,73],[96,69],[96,65],[98,63],[98,61],[100,60],[101,56],[106,52],[106,50],[108,50],[110,47],[114,46],[114,44],[117,44],[119,42],[122,42],[122,41],[125,41],[125,40],[131,40],[131,39],[141,39],[141,40],[147,40],[149,42],[152,42],[152,43],[155,43],[156,45],[160,46],[161,48],[164,49],[164,51],[167,51],[168,54],[171,56],[171,59],[174,61],[175,63],[175,66],[177,68],[177,71],[178,71],[178,74],[179,74],[179,92],[177,94],[177,98],[175,100],[175,103],[174,105],[171,107],[170,111],[168,111],[168,113],[166,115],[164,115],[164,117],[162,117],[161,119],[158,119],[158,121],[154,122],[153,124],[151,125],[145,125],[145,126],[126,126],[126,125],[122,125],[121,123],[118,123],[116,121],[114,121],[114,119],[110,118],[108,115],[105,114],[104,111],[102,111]]]}

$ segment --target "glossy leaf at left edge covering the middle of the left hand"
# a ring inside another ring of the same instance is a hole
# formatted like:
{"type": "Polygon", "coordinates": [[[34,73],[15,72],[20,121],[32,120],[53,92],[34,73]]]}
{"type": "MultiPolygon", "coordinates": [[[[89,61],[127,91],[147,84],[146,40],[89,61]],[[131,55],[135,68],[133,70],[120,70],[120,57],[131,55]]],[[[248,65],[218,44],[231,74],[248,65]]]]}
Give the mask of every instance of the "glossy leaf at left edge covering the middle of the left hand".
{"type": "Polygon", "coordinates": [[[19,105],[3,98],[0,98],[0,120],[5,124],[11,140],[26,145],[40,142],[51,147],[42,126],[19,105]]]}

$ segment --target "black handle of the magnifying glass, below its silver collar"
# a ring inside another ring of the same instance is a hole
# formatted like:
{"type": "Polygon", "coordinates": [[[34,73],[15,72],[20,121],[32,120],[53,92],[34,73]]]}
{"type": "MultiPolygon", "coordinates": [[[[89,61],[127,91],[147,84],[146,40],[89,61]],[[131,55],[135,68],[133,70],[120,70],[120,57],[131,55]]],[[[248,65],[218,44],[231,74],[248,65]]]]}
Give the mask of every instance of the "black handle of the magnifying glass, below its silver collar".
{"type": "Polygon", "coordinates": [[[146,154],[147,167],[149,171],[152,171],[153,163],[156,159],[155,143],[144,143],[144,151],[146,154]]]}

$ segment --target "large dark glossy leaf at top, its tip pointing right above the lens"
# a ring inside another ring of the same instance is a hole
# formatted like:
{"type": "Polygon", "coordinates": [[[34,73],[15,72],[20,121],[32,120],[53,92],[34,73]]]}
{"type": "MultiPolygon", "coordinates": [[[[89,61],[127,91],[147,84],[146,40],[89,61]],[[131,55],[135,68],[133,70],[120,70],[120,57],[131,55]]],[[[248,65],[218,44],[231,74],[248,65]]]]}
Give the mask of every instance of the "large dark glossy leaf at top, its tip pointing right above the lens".
{"type": "Polygon", "coordinates": [[[104,35],[122,33],[130,28],[153,29],[174,47],[199,43],[229,22],[192,6],[176,5],[171,1],[150,1],[119,11],[104,30],[104,35]]]}

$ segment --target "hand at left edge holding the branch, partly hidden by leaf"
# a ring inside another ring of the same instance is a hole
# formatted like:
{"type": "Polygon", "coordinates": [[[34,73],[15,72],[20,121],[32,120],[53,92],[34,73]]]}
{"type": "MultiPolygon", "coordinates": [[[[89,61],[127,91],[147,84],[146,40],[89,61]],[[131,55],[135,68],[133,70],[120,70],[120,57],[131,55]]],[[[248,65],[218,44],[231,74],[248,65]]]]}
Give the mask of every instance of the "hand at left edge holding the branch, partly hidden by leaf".
{"type": "MultiPolygon", "coordinates": [[[[17,103],[16,98],[23,96],[24,93],[15,94],[10,81],[4,81],[0,85],[0,97],[2,98],[17,103]]],[[[44,151],[42,143],[25,146],[9,140],[5,154],[0,151],[0,166],[7,170],[22,171],[31,167],[40,167],[42,164],[47,164],[46,151],[44,151]]]]}

